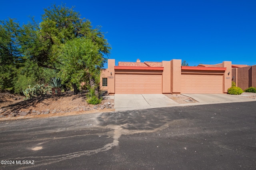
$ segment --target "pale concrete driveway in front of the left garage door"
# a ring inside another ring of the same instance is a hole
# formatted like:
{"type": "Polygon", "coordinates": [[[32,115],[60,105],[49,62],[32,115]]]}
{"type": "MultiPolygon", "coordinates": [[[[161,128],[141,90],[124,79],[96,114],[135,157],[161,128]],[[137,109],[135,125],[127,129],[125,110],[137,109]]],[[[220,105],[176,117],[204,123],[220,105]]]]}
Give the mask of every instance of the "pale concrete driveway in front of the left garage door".
{"type": "Polygon", "coordinates": [[[115,94],[114,103],[116,111],[178,106],[164,94],[115,94]]]}

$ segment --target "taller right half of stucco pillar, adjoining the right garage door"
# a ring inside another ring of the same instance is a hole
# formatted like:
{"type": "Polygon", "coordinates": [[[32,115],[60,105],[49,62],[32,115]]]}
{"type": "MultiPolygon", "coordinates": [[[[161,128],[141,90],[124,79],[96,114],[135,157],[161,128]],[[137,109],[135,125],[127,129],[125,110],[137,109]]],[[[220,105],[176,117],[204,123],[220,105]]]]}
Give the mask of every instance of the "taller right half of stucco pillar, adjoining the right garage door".
{"type": "Polygon", "coordinates": [[[181,60],[171,60],[171,94],[180,94],[181,60]]]}

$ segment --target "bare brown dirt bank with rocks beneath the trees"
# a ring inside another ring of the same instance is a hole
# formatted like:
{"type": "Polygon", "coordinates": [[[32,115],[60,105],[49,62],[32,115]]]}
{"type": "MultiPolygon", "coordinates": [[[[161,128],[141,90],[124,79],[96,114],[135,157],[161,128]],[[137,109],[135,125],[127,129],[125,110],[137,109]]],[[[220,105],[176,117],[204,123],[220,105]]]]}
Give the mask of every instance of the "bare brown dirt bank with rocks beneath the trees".
{"type": "MultiPolygon", "coordinates": [[[[108,96],[106,92],[101,95],[103,98],[108,96]]],[[[73,92],[64,92],[59,96],[47,94],[46,96],[28,100],[24,100],[24,96],[4,92],[0,93],[0,117],[1,115],[5,115],[4,118],[8,117],[10,119],[16,119],[19,117],[50,117],[114,111],[114,100],[104,99],[101,104],[92,105],[88,104],[86,99],[85,91],[80,92],[77,95],[74,95],[73,92]],[[100,107],[105,103],[110,103],[110,106],[108,107],[112,108],[101,109],[100,107]],[[19,116],[22,111],[27,112],[28,115],[19,116]],[[49,111],[49,113],[43,114],[46,111],[49,111]],[[53,113],[53,111],[55,113],[53,113]],[[39,112],[40,114],[37,114],[39,112]]]]}

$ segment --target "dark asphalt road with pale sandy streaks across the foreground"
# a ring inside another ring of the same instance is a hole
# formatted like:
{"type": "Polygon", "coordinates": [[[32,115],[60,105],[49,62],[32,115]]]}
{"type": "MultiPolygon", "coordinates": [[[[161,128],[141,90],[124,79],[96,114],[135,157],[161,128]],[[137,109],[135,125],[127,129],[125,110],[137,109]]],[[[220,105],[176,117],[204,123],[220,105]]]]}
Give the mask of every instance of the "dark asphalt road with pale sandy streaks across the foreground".
{"type": "Polygon", "coordinates": [[[1,121],[0,160],[4,170],[255,169],[256,102],[1,121]]]}

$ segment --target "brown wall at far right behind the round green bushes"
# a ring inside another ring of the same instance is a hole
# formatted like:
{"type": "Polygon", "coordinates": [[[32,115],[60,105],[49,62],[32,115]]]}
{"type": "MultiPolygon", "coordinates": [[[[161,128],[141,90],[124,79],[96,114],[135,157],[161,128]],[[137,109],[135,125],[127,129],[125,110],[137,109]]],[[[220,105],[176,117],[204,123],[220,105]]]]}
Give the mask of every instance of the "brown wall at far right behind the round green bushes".
{"type": "Polygon", "coordinates": [[[232,68],[232,76],[234,76],[233,81],[236,82],[236,86],[242,88],[242,90],[249,87],[255,87],[256,65],[242,68],[232,68]],[[236,74],[233,75],[233,72],[236,74]]]}

